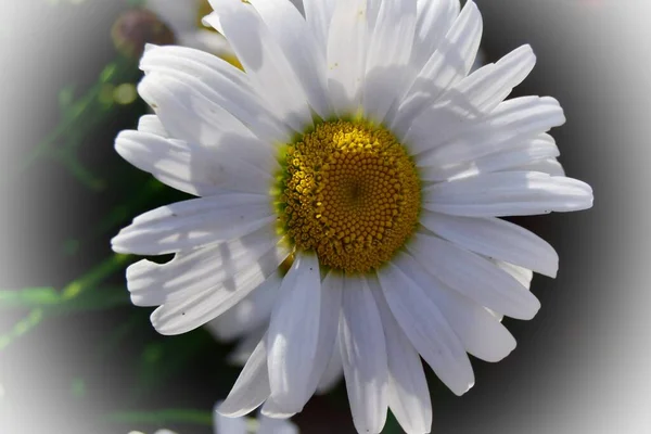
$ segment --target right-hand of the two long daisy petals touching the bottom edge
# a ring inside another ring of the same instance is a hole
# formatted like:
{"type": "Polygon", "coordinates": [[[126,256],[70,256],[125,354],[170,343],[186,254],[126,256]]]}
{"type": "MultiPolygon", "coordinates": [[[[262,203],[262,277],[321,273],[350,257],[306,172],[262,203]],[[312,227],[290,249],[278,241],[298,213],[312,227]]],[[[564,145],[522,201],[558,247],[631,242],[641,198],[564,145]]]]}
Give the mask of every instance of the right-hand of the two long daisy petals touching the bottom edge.
{"type": "Polygon", "coordinates": [[[388,407],[407,434],[429,433],[432,427],[432,400],[418,352],[391,312],[380,283],[369,284],[382,318],[388,359],[388,407]]]}

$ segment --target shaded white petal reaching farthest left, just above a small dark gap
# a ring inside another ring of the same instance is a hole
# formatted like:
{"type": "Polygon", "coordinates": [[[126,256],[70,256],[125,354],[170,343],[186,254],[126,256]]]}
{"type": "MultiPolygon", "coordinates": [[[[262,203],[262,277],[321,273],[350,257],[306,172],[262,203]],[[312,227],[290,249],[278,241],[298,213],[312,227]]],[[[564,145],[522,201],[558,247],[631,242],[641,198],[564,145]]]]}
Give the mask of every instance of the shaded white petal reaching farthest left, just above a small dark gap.
{"type": "Polygon", "coordinates": [[[271,225],[272,213],[268,199],[257,194],[191,199],[136,217],[111,244],[118,253],[164,255],[245,235],[271,225]]]}

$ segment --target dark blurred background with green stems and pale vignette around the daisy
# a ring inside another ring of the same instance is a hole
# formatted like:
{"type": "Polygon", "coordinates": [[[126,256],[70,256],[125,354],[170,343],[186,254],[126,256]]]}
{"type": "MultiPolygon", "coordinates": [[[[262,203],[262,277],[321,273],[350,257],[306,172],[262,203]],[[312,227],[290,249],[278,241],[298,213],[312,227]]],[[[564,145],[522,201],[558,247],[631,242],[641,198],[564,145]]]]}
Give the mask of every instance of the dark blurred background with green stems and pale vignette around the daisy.
{"type": "MultiPolygon", "coordinates": [[[[139,77],[110,36],[127,3],[9,0],[0,18],[2,434],[210,433],[209,411],[239,372],[225,361],[231,346],[204,330],[158,335],[149,310],[129,304],[132,259],[108,246],[137,214],[182,199],[113,151],[145,111],[104,98],[139,77]],[[66,122],[75,128],[59,131],[66,122]]],[[[533,46],[537,66],[514,95],[561,102],[560,161],[596,200],[518,219],[558,250],[559,276],[534,278],[542,308],[505,320],[518,348],[499,363],[473,360],[469,393],[430,375],[433,432],[651,433],[651,2],[476,3],[487,62],[533,46]]],[[[354,433],[342,385],[295,421],[308,434],[354,433]]],[[[390,421],[385,432],[401,431],[390,421]]]]}

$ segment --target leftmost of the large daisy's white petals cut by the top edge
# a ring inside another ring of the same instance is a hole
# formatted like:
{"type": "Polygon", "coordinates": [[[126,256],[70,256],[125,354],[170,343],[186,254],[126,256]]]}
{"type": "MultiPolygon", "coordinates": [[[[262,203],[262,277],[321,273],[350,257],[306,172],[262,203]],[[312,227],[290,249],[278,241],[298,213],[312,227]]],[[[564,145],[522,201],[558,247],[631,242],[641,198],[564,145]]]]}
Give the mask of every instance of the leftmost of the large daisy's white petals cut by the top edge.
{"type": "MultiPolygon", "coordinates": [[[[219,15],[224,35],[247,76],[278,117],[303,132],[312,124],[305,92],[268,27],[251,5],[241,1],[209,0],[219,15]]],[[[212,15],[204,18],[212,24],[212,15]]]]}

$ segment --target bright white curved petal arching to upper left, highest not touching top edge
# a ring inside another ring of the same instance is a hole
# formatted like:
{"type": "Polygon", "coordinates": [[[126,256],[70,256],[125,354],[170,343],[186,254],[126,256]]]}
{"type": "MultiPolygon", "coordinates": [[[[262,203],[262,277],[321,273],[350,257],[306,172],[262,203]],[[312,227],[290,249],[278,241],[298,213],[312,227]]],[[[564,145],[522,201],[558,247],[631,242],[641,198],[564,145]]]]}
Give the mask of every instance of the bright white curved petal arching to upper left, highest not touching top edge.
{"type": "Polygon", "coordinates": [[[203,82],[207,98],[261,140],[286,142],[291,138],[289,127],[265,105],[246,74],[219,58],[184,47],[149,46],[140,68],[146,74],[165,73],[203,82]]]}

